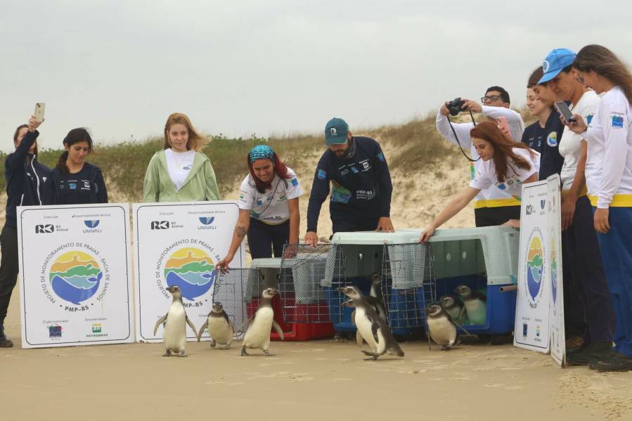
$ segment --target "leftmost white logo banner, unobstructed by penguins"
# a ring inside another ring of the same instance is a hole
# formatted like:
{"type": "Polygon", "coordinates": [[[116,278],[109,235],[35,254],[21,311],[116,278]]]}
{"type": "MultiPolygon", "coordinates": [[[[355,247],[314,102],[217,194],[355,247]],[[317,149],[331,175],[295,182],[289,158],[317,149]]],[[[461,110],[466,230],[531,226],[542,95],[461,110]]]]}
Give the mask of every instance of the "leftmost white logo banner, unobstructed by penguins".
{"type": "Polygon", "coordinates": [[[134,342],[128,209],[18,207],[22,348],[134,342]]]}

